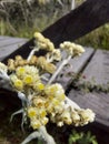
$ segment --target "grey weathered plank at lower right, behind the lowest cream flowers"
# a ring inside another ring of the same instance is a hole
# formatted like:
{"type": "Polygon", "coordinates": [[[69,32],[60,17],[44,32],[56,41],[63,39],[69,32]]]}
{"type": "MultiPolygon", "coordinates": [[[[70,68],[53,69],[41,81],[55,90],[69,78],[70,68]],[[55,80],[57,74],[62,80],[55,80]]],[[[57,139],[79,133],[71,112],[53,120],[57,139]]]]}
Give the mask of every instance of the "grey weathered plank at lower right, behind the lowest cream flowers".
{"type": "Polygon", "coordinates": [[[81,93],[71,90],[69,97],[81,107],[93,110],[98,126],[109,132],[109,93],[81,93]]]}

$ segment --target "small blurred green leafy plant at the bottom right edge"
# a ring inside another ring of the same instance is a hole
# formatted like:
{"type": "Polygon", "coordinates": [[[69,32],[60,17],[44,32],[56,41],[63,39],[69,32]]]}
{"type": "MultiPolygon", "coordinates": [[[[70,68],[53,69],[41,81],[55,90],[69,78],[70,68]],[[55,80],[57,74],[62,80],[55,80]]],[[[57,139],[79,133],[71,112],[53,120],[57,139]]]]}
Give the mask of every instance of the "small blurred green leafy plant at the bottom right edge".
{"type": "Polygon", "coordinates": [[[78,133],[77,131],[72,131],[72,133],[69,136],[69,144],[98,144],[96,136],[91,135],[90,132],[78,133]]]}

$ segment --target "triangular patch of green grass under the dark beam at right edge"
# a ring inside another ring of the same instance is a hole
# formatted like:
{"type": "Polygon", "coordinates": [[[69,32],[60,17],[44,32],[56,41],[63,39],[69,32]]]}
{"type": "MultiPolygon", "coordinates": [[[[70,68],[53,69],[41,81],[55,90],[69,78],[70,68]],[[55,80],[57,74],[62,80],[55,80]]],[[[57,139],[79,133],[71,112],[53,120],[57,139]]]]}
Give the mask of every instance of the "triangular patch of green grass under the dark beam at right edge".
{"type": "Polygon", "coordinates": [[[86,47],[109,50],[109,23],[78,39],[76,42],[86,47]]]}

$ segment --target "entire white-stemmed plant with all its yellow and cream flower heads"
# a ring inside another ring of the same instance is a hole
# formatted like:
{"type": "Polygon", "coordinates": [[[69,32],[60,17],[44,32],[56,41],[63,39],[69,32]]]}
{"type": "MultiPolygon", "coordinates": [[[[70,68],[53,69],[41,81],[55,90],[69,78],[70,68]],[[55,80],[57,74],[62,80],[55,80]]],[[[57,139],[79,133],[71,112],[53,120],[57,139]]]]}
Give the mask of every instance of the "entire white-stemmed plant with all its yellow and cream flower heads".
{"type": "Polygon", "coordinates": [[[49,122],[57,126],[65,124],[82,126],[93,122],[95,113],[90,109],[81,109],[67,97],[60,83],[54,82],[62,68],[75,56],[79,56],[85,49],[76,43],[66,41],[60,49],[41,33],[36,32],[36,45],[27,59],[17,55],[9,59],[7,64],[0,62],[0,86],[16,91],[22,102],[22,107],[11,116],[21,113],[23,124],[29,122],[33,132],[21,143],[27,144],[32,138],[42,138],[47,144],[56,144],[53,137],[47,132],[49,122]],[[46,55],[37,56],[39,50],[47,51],[46,55]],[[62,58],[66,51],[66,58],[62,58]],[[57,68],[57,62],[60,65],[57,68]]]}

